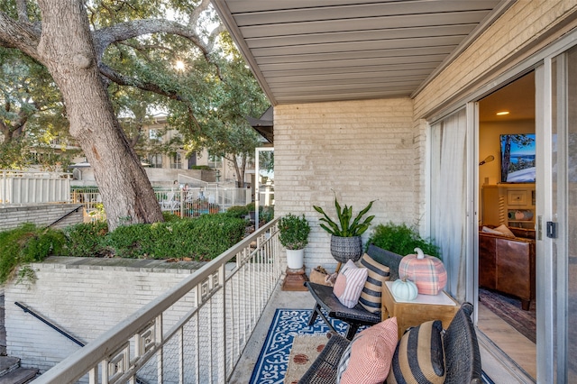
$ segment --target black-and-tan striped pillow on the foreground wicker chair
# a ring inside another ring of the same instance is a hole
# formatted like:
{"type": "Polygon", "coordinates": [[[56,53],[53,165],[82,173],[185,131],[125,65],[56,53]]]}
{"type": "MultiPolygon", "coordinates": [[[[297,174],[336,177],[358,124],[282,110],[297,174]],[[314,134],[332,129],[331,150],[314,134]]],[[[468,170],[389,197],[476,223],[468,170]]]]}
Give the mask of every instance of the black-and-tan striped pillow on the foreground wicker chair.
{"type": "Polygon", "coordinates": [[[409,328],[398,342],[387,383],[444,383],[442,333],[440,320],[409,328]]]}

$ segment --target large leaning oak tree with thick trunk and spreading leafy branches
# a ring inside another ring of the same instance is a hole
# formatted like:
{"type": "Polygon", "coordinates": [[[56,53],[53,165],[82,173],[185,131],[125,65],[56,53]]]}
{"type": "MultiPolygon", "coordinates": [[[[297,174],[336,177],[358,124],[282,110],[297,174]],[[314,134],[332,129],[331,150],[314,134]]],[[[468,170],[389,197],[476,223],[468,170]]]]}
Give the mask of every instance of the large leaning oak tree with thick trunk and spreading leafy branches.
{"type": "Polygon", "coordinates": [[[182,103],[190,134],[209,137],[208,128],[217,125],[217,119],[199,111],[199,105],[206,107],[212,100],[192,103],[195,87],[180,87],[174,77],[154,71],[150,55],[144,66],[148,70],[123,64],[128,55],[151,51],[145,45],[153,41],[150,36],[159,35],[163,40],[155,47],[157,51],[180,50],[186,56],[182,50],[194,50],[194,65],[204,65],[205,78],[210,72],[212,78],[223,80],[219,65],[223,57],[214,53],[222,27],[213,23],[212,31],[206,31],[201,26],[209,1],[16,0],[0,4],[0,46],[22,51],[50,72],[66,106],[69,133],[94,168],[109,227],[162,221],[141,161],[116,118],[108,87],[134,87],[182,103]],[[186,95],[187,89],[191,95],[186,95]]]}

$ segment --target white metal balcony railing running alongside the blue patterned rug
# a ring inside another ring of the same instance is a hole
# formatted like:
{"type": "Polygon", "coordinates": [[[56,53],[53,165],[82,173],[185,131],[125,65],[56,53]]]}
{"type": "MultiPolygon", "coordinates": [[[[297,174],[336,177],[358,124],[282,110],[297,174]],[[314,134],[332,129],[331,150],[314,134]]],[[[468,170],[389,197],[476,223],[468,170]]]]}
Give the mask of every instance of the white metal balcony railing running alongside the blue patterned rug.
{"type": "Polygon", "coordinates": [[[279,283],[277,221],[265,224],[34,383],[228,381],[279,283]]]}

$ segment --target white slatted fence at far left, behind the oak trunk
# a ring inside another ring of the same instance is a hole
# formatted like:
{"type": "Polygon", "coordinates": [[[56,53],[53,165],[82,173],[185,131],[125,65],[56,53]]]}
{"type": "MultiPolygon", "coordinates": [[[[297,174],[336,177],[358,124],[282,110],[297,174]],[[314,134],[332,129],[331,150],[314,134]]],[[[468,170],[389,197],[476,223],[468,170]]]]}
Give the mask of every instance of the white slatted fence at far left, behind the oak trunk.
{"type": "Polygon", "coordinates": [[[0,203],[69,203],[71,173],[0,170],[0,203]]]}

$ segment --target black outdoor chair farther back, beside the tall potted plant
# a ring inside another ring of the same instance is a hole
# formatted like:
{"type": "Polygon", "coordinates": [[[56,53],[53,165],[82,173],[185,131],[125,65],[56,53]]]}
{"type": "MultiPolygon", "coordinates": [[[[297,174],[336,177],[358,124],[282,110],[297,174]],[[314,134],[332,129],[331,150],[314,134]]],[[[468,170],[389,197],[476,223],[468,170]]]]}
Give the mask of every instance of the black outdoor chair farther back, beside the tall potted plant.
{"type": "MultiPolygon", "coordinates": [[[[369,245],[367,254],[371,256],[374,261],[389,267],[390,280],[398,279],[398,264],[402,259],[400,255],[391,251],[385,251],[374,244],[369,245]]],[[[380,313],[371,313],[359,303],[357,303],[356,306],[353,306],[353,308],[343,306],[339,299],[334,296],[333,287],[312,283],[310,281],[305,282],[305,287],[308,288],[308,291],[316,300],[316,305],[313,309],[312,315],[308,320],[308,325],[313,325],[315,323],[316,316],[321,316],[331,331],[336,332],[333,325],[331,325],[331,322],[323,313],[324,310],[328,317],[342,320],[349,325],[346,338],[348,340],[352,340],[354,334],[357,333],[360,326],[375,325],[381,320],[380,313]]]]}

